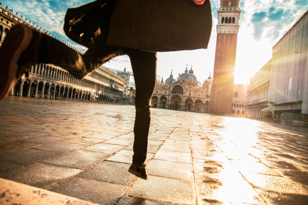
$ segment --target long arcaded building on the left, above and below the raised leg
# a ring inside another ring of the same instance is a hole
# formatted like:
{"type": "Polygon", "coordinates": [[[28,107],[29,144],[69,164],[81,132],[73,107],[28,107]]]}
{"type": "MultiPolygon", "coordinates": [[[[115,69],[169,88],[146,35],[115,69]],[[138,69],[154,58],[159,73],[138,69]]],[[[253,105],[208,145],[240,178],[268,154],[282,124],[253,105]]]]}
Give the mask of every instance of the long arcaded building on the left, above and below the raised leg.
{"type": "MultiPolygon", "coordinates": [[[[31,20],[13,9],[3,8],[0,3],[0,45],[7,32],[15,24],[26,24],[32,29],[51,36],[45,29],[31,23],[31,20]]],[[[56,38],[56,36],[52,37],[56,38]]],[[[57,38],[59,40],[59,37],[57,38]]],[[[69,44],[60,41],[71,47],[69,44]]],[[[71,47],[72,48],[72,47],[71,47]]],[[[10,95],[25,97],[41,97],[52,99],[95,100],[115,103],[125,103],[125,79],[110,69],[101,66],[84,79],[73,77],[66,70],[50,64],[39,64],[31,67],[29,76],[23,75],[13,87],[10,95]]]]}

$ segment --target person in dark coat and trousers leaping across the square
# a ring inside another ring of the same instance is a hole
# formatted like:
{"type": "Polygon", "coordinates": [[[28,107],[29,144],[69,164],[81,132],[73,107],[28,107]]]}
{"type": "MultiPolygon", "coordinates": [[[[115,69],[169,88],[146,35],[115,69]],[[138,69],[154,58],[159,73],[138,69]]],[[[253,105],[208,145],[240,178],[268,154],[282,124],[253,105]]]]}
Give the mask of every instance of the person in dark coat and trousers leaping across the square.
{"type": "Polygon", "coordinates": [[[145,159],[158,51],[207,48],[209,0],[98,0],[68,9],[64,31],[88,47],[80,54],[46,34],[16,24],[0,49],[0,100],[34,64],[53,64],[82,79],[115,56],[130,57],[136,84],[136,119],[129,172],[147,179],[145,159]]]}

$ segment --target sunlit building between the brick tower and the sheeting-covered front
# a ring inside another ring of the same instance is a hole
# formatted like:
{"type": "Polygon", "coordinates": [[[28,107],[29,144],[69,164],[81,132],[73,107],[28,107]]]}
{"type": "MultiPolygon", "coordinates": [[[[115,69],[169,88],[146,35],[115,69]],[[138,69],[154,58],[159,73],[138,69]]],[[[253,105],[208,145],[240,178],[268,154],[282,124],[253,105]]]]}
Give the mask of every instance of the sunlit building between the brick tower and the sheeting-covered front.
{"type": "Polygon", "coordinates": [[[251,79],[248,101],[245,105],[248,117],[273,117],[273,107],[268,108],[268,91],[271,79],[272,59],[269,60],[251,79]],[[268,108],[267,110],[265,110],[268,108]],[[272,109],[272,110],[271,110],[272,109]]]}

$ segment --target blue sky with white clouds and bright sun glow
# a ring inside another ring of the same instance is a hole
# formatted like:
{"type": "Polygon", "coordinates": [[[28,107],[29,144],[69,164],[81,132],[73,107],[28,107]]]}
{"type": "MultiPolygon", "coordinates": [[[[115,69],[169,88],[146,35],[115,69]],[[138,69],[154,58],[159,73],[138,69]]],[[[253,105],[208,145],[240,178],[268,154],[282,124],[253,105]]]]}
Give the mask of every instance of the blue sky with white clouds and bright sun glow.
{"type": "MultiPolygon", "coordinates": [[[[63,31],[63,20],[68,8],[78,7],[93,0],[0,0],[2,7],[13,9],[18,17],[23,15],[31,24],[42,27],[51,35],[59,37],[73,47],[85,52],[86,48],[78,45],[63,31]]],[[[187,0],[189,1],[189,0],[187,0]]],[[[208,0],[207,0],[208,1],[208,0]]],[[[220,0],[211,0],[213,27],[207,49],[191,51],[159,52],[157,61],[157,79],[169,77],[171,69],[174,78],[192,67],[197,80],[203,83],[209,75],[213,77],[217,10],[220,0]]],[[[235,64],[235,84],[249,84],[249,79],[272,58],[272,48],[278,40],[308,10],[307,0],[240,0],[239,32],[235,64]]],[[[35,26],[36,27],[36,26],[35,26]]],[[[115,57],[105,67],[113,71],[131,72],[128,56],[115,57]]],[[[133,85],[133,74],[130,78],[133,85]]]]}

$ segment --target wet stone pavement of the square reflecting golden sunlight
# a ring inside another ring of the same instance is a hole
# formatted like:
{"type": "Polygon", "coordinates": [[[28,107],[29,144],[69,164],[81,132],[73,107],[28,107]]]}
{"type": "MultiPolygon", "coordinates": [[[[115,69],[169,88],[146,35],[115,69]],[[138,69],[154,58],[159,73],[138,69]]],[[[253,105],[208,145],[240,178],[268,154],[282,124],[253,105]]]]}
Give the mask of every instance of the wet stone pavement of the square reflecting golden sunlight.
{"type": "Polygon", "coordinates": [[[308,128],[153,108],[143,180],[127,172],[133,106],[9,97],[0,110],[0,204],[24,196],[12,181],[99,204],[308,201],[308,128]]]}

